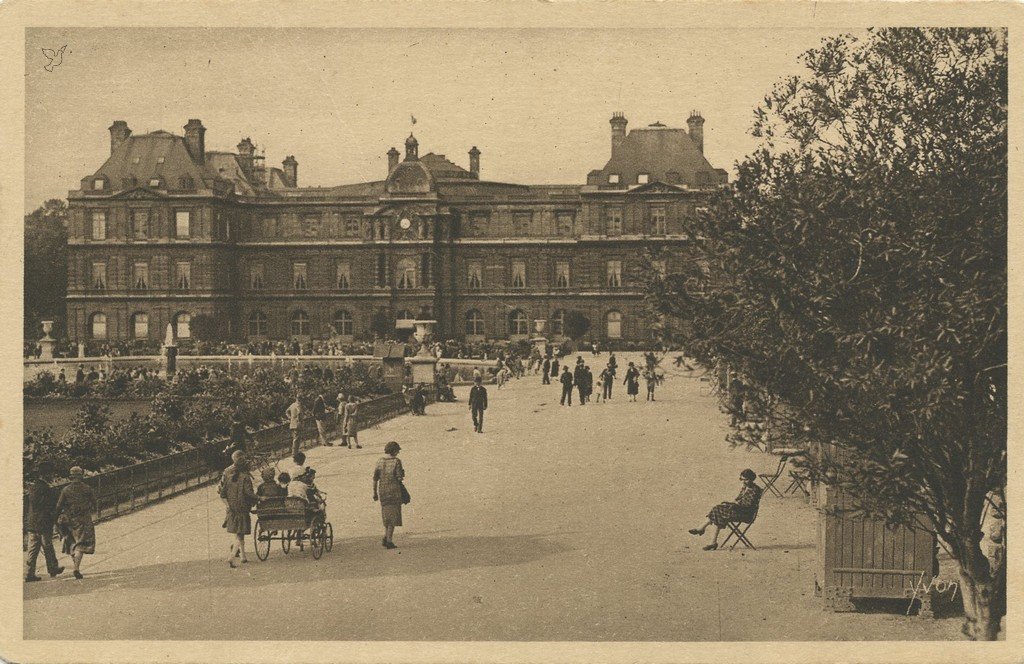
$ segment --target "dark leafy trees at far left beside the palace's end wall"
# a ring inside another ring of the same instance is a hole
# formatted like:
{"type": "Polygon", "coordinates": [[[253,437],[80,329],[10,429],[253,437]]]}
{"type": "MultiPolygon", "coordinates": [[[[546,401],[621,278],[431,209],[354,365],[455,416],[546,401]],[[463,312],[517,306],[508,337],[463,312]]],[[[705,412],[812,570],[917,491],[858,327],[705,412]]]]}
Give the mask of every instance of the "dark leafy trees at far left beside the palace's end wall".
{"type": "Polygon", "coordinates": [[[43,335],[40,321],[56,321],[62,335],[68,294],[68,204],[51,199],[25,216],[25,338],[43,335]]]}

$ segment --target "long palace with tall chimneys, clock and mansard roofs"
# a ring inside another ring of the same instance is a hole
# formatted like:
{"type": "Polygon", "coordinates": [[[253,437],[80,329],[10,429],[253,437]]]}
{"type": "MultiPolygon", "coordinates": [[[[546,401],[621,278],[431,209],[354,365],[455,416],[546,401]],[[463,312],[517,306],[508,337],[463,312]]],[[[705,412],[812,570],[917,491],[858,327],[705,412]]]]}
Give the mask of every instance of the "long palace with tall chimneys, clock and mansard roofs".
{"type": "Polygon", "coordinates": [[[298,163],[267,168],[249,138],[206,150],[183,135],[110,127],[111,156],[69,193],[68,335],[191,335],[208,315],[233,340],[372,338],[434,319],[441,338],[646,338],[640,271],[691,267],[683,220],[727,182],[703,157],[703,119],[627,132],[586,184],[481,178],[444,155],[388,153],[380,179],[299,186],[298,163]],[[647,250],[656,258],[645,260],[647,250]]]}

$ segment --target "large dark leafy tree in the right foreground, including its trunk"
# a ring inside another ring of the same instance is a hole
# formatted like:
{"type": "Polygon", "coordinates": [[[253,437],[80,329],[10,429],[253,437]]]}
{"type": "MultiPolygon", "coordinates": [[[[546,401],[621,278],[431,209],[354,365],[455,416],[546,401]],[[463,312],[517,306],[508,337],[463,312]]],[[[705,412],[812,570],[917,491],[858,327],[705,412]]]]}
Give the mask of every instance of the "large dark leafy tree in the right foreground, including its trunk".
{"type": "Polygon", "coordinates": [[[992,639],[1005,554],[980,543],[1007,482],[1006,31],[874,30],[802,59],[756,111],[762,146],[689,229],[710,288],[676,275],[650,297],[788,437],[835,442],[813,476],[864,513],[926,520],[958,565],[965,632],[992,639]]]}

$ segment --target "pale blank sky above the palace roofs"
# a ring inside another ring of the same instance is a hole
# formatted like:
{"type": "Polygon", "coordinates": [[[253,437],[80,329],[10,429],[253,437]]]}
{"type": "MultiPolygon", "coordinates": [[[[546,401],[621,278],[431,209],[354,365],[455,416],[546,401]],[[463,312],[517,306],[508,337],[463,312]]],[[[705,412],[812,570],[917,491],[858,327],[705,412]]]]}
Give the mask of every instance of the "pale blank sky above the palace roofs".
{"type": "Polygon", "coordinates": [[[115,120],[181,134],[199,118],[208,151],[249,136],[267,166],[294,155],[303,186],[383,179],[410,131],[463,167],[476,146],[481,179],[582,184],[609,157],[612,112],[634,129],[697,110],[706,156],[731,174],[757,144],[756,106],[837,32],[33,29],[26,207],[95,172],[115,120]],[[45,71],[41,49],[65,44],[45,71]]]}

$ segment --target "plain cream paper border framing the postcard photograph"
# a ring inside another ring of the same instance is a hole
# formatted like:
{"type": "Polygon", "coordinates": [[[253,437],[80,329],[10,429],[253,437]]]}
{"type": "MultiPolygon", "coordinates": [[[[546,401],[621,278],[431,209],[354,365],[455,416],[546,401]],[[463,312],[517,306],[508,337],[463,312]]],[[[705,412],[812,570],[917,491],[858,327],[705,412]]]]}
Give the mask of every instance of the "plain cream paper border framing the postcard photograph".
{"type": "MultiPolygon", "coordinates": [[[[1024,661],[1020,547],[1008,555],[1006,639],[971,641],[850,642],[504,642],[504,641],[69,641],[26,640],[23,636],[23,552],[20,524],[20,445],[23,431],[19,381],[23,365],[23,219],[26,209],[25,31],[31,28],[202,27],[202,28],[634,28],[727,29],[972,26],[1009,28],[1010,49],[1010,219],[1020,219],[1024,108],[1019,31],[1022,7],[1012,2],[647,2],[550,1],[506,2],[232,2],[232,1],[32,1],[0,2],[0,213],[2,265],[0,285],[0,660],[6,662],[1020,662],[1024,661]],[[17,572],[19,575],[20,572],[17,572]]],[[[211,48],[215,48],[212,46],[211,48]]],[[[748,110],[741,110],[749,113],[748,110]]],[[[185,111],[182,111],[182,114],[185,111]]],[[[735,159],[741,158],[736,155],[735,159]]],[[[723,164],[724,166],[724,164],[723,164]]],[[[731,166],[731,164],[730,164],[731,166]]],[[[69,182],[69,189],[76,182],[69,182]]],[[[1021,344],[1021,231],[1011,223],[1010,237],[1010,404],[1024,403],[1019,361],[1021,344]],[[1018,339],[1014,342],[1013,339],[1018,339]]],[[[1019,452],[1020,413],[1011,413],[1008,430],[1009,476],[1024,476],[1019,452]]],[[[1022,495],[1011,481],[1010,497],[1022,495]]],[[[679,525],[681,528],[682,526],[679,525]]],[[[1011,512],[1008,527],[1021,531],[1011,512]]]]}

